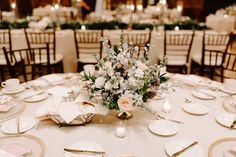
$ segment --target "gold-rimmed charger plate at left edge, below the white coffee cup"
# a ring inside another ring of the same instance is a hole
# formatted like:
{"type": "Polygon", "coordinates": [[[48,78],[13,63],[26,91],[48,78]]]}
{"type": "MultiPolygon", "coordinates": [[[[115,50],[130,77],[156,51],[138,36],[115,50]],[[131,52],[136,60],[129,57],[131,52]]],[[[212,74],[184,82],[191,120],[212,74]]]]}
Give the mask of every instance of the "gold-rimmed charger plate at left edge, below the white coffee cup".
{"type": "Polygon", "coordinates": [[[9,100],[6,103],[13,104],[13,107],[7,112],[0,112],[0,122],[6,121],[8,119],[11,119],[11,118],[14,118],[14,117],[18,116],[25,109],[24,102],[22,102],[20,100],[17,100],[15,98],[12,98],[11,100],[9,100]]]}

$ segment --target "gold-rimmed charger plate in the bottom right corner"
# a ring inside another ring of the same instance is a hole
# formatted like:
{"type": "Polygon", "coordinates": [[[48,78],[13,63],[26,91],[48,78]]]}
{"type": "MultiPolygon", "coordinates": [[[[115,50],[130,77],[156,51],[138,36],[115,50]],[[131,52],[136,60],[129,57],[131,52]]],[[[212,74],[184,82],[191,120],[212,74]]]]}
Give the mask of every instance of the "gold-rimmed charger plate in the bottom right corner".
{"type": "Polygon", "coordinates": [[[221,138],[213,142],[208,149],[208,157],[219,157],[231,154],[230,149],[236,145],[236,137],[221,138]]]}

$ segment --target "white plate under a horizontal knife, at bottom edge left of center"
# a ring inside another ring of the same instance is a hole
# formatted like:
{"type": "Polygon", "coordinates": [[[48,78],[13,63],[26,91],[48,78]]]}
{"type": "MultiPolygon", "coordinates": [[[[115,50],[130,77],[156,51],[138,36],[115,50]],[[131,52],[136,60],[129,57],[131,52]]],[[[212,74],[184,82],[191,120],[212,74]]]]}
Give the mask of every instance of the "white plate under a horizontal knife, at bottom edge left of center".
{"type": "MultiPolygon", "coordinates": [[[[66,148],[75,149],[75,150],[78,149],[78,150],[104,152],[104,149],[100,144],[92,142],[92,141],[81,141],[66,148]]],[[[83,153],[83,152],[72,153],[72,152],[65,151],[64,157],[102,157],[102,155],[92,154],[92,153],[83,153]]]]}

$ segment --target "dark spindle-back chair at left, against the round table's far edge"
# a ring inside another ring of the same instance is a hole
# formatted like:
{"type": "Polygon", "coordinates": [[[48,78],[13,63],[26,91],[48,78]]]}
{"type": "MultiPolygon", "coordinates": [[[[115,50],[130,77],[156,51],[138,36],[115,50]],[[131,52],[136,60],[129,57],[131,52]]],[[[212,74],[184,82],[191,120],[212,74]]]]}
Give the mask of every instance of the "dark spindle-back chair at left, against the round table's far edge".
{"type": "Polygon", "coordinates": [[[3,52],[12,78],[28,81],[29,77],[32,80],[37,76],[51,73],[48,44],[45,47],[18,50],[7,50],[3,47],[3,52]],[[23,79],[21,76],[23,76],[23,79]]]}

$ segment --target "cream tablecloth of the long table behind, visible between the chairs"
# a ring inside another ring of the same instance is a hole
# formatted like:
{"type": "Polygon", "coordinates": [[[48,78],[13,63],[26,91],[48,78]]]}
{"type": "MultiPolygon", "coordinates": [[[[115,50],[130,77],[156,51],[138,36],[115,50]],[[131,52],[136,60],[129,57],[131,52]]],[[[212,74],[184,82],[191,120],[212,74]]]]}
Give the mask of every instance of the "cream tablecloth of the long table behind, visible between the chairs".
{"type": "MultiPolygon", "coordinates": [[[[113,42],[119,43],[120,30],[105,30],[104,36],[113,42]]],[[[12,30],[13,49],[26,48],[26,39],[23,30],[12,30]]],[[[202,32],[196,32],[191,53],[201,55],[202,32]]],[[[152,31],[150,64],[156,64],[158,57],[163,56],[164,36],[160,32],[152,31]]],[[[56,53],[63,55],[64,71],[76,72],[76,50],[72,30],[56,31],[56,53]]]]}

